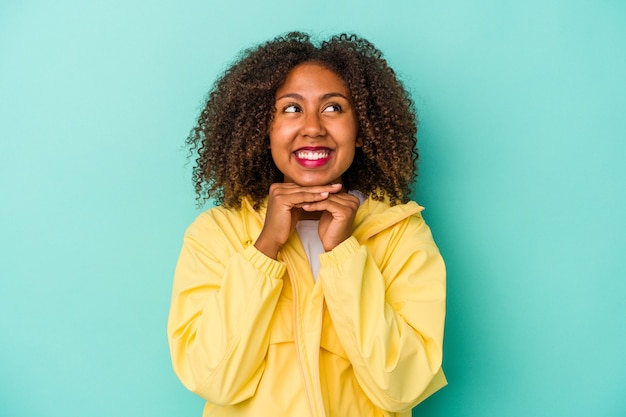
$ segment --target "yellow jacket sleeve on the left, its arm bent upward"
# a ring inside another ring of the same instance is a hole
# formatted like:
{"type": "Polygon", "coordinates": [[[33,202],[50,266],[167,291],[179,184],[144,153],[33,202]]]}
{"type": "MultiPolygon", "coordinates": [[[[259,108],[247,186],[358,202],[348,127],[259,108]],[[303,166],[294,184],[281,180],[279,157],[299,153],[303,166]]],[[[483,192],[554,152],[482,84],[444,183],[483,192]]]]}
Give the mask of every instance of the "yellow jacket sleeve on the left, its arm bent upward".
{"type": "Polygon", "coordinates": [[[218,405],[254,395],[284,271],[254,246],[237,247],[206,213],[189,227],[168,320],[172,364],[183,385],[218,405]]]}

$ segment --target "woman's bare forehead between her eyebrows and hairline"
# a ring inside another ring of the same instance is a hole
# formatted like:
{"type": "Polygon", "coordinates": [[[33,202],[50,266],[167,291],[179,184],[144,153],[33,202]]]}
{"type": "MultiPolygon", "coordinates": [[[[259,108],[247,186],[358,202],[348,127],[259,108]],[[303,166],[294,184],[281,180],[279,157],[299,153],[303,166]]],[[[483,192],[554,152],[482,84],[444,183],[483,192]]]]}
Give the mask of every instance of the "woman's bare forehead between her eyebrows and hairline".
{"type": "Polygon", "coordinates": [[[276,95],[289,92],[311,92],[326,94],[329,92],[349,95],[344,80],[334,71],[316,62],[305,62],[295,66],[278,88],[276,95]]]}

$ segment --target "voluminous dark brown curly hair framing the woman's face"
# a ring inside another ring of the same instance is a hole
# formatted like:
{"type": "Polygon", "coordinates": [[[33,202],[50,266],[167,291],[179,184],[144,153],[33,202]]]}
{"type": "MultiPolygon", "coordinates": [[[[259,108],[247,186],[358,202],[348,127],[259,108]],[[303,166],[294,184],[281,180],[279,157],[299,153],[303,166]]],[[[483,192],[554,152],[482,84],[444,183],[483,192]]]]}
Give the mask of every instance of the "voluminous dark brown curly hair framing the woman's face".
{"type": "Polygon", "coordinates": [[[406,202],[416,177],[417,119],[407,91],[382,53],[356,35],[341,34],[315,45],[291,32],[244,50],[216,81],[186,144],[197,153],[193,181],[199,205],[208,199],[255,209],[272,183],[282,182],[268,147],[274,100],[287,74],[315,62],[335,72],[351,94],[363,146],[342,175],[347,189],[391,204],[406,202]]]}

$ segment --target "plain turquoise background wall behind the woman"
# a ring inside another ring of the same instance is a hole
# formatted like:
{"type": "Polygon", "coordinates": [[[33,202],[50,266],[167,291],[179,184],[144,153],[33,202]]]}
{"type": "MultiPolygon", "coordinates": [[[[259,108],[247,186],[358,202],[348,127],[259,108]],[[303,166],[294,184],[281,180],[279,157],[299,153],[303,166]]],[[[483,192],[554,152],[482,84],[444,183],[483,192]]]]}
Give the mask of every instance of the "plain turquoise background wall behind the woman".
{"type": "Polygon", "coordinates": [[[626,3],[0,3],[0,416],[200,416],[165,326],[183,141],[236,53],[354,31],[413,94],[450,385],[415,416],[626,415],[626,3]]]}

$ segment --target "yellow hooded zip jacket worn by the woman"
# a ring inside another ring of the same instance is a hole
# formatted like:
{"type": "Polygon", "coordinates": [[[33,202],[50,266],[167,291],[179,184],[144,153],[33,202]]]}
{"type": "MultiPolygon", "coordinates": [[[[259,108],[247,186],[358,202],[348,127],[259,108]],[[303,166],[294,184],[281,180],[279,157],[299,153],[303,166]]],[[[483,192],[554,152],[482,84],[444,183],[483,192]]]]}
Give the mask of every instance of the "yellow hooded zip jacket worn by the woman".
{"type": "Polygon", "coordinates": [[[297,233],[278,260],[253,246],[265,207],[202,213],[168,337],[203,416],[410,416],[443,387],[445,267],[421,211],[366,200],[317,281],[297,233]]]}

